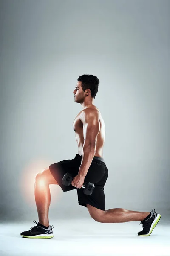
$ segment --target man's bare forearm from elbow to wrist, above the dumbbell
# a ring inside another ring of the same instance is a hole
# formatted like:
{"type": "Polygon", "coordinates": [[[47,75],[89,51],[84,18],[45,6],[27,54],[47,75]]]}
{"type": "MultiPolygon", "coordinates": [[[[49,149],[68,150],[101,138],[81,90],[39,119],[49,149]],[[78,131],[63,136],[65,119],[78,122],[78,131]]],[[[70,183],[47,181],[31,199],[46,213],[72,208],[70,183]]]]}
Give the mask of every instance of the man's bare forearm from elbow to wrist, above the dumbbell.
{"type": "Polygon", "coordinates": [[[82,149],[82,162],[79,167],[78,174],[81,177],[85,177],[88,173],[88,169],[91,166],[91,162],[96,152],[96,146],[88,145],[82,149]]]}

